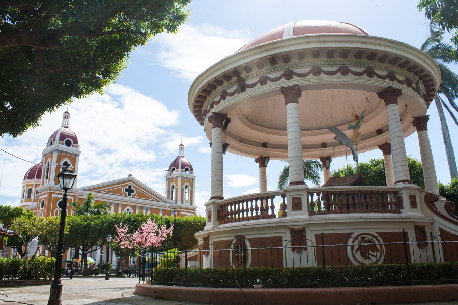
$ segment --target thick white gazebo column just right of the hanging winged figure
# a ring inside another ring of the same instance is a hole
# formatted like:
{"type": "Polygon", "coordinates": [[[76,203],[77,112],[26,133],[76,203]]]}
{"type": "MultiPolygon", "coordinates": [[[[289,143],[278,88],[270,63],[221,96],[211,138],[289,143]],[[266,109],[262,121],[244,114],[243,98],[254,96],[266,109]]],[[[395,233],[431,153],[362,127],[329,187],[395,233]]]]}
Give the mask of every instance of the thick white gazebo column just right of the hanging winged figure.
{"type": "Polygon", "coordinates": [[[378,93],[385,101],[390,132],[391,155],[393,158],[394,184],[412,183],[407,164],[406,146],[404,144],[403,128],[400,123],[397,98],[402,95],[401,89],[391,86],[378,93]]]}

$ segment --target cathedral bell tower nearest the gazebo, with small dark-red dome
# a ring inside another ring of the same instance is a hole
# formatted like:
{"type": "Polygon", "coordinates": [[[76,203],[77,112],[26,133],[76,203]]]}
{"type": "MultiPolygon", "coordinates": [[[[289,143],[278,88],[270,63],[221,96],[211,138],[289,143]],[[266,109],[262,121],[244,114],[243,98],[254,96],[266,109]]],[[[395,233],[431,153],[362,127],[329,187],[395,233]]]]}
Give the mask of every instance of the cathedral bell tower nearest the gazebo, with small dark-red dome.
{"type": "Polygon", "coordinates": [[[178,156],[167,171],[166,197],[176,204],[194,205],[195,176],[191,163],[184,156],[184,145],[178,146],[178,156]]]}

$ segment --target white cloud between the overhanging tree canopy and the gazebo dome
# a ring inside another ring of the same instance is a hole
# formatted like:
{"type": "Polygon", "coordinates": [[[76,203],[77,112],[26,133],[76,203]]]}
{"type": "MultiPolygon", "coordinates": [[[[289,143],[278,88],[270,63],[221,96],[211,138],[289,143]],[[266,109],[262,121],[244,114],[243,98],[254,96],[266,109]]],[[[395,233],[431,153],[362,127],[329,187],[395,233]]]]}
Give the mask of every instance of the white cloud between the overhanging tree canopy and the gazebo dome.
{"type": "Polygon", "coordinates": [[[195,77],[248,42],[247,32],[202,24],[183,24],[177,34],[160,34],[154,41],[161,50],[158,60],[182,79],[195,77]]]}

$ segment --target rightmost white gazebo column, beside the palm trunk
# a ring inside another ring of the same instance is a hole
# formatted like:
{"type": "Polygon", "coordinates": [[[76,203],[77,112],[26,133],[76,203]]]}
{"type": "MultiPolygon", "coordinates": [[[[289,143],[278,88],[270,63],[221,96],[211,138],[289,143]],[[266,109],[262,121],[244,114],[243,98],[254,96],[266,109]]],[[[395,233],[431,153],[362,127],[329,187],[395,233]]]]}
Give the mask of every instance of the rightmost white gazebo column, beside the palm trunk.
{"type": "Polygon", "coordinates": [[[431,150],[430,137],[428,136],[429,115],[414,117],[413,125],[417,129],[418,142],[420,144],[421,165],[423,167],[424,187],[426,190],[439,194],[436,168],[434,167],[433,152],[431,150]]]}

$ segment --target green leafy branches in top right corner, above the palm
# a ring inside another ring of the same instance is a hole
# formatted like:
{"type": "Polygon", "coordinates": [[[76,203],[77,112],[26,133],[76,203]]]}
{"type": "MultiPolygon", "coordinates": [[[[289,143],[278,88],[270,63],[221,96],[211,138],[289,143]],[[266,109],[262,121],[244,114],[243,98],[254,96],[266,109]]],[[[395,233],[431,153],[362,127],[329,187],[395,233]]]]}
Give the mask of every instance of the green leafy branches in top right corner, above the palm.
{"type": "Polygon", "coordinates": [[[458,2],[456,0],[420,0],[419,11],[425,10],[426,18],[438,23],[443,31],[455,33],[451,42],[458,46],[458,2]]]}

